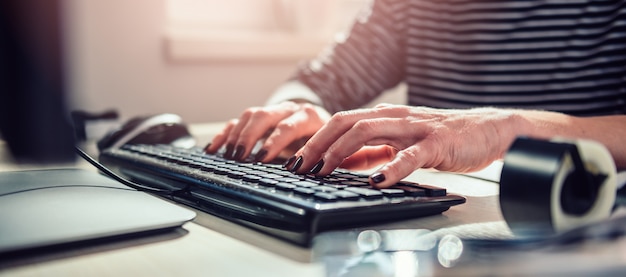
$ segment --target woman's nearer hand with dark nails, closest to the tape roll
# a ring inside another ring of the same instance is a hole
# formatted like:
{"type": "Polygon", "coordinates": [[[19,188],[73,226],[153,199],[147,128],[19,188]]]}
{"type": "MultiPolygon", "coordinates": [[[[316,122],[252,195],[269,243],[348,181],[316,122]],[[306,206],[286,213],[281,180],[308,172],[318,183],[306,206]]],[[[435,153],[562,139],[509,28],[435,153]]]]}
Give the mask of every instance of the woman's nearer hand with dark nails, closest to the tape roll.
{"type": "Polygon", "coordinates": [[[445,110],[402,105],[340,112],[317,132],[287,169],[327,175],[336,167],[363,169],[389,187],[419,168],[468,172],[503,157],[521,132],[509,110],[445,110]]]}

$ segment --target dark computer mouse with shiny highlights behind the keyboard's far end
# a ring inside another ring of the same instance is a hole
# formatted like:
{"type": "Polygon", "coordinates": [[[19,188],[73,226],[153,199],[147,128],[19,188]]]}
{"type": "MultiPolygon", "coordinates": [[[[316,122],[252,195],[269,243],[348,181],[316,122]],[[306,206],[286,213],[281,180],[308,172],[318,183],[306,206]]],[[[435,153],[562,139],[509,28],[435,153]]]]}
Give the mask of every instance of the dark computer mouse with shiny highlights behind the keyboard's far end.
{"type": "Polygon", "coordinates": [[[134,117],[97,143],[100,151],[124,144],[172,144],[189,148],[195,146],[196,141],[180,116],[165,113],[134,117]]]}

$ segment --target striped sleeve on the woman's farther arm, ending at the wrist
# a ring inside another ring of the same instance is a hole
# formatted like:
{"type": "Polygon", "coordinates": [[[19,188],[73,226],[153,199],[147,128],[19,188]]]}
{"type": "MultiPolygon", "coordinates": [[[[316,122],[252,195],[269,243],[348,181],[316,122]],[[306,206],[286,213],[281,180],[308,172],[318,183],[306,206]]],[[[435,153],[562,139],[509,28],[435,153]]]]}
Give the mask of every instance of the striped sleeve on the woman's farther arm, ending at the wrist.
{"type": "Polygon", "coordinates": [[[405,77],[407,1],[376,0],[293,76],[331,113],[358,108],[405,77]]]}

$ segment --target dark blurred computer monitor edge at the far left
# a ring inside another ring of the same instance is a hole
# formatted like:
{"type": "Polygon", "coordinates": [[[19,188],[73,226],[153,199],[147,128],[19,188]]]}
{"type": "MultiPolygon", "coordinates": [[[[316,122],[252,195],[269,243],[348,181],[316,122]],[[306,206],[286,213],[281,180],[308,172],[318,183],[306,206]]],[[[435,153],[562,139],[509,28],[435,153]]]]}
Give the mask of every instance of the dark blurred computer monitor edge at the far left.
{"type": "Polygon", "coordinates": [[[0,1],[0,135],[18,162],[70,162],[63,0],[0,1]]]}

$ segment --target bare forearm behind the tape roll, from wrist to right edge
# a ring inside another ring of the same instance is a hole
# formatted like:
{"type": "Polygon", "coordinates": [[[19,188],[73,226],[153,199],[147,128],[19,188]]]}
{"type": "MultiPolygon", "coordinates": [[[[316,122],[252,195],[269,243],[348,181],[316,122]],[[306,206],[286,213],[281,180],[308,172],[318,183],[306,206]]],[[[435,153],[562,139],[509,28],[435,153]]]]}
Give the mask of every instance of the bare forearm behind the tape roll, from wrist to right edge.
{"type": "MultiPolygon", "coordinates": [[[[626,169],[626,115],[575,117],[547,111],[515,112],[520,128],[517,135],[550,139],[554,137],[594,140],[608,148],[618,169],[626,169]]],[[[516,132],[516,131],[513,131],[516,132]]]]}

